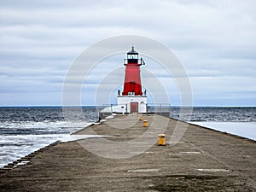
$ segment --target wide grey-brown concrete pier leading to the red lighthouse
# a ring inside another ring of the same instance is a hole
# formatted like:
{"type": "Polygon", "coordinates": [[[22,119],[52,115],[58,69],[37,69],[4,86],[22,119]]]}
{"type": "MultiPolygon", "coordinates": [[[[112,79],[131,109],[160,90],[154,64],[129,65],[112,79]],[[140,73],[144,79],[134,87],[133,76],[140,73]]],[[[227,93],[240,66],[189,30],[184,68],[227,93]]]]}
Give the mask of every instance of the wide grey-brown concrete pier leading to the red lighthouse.
{"type": "MultiPolygon", "coordinates": [[[[2,169],[0,191],[256,191],[255,142],[189,125],[173,145],[170,139],[178,128],[177,120],[165,119],[165,132],[153,131],[147,135],[154,115],[143,115],[148,127],[143,127],[139,116],[130,117],[137,122],[126,129],[125,116],[107,120],[117,128],[107,122],[90,126],[98,135],[114,136],[105,139],[117,145],[136,144],[138,153],[130,152],[133,153],[130,158],[104,158],[82,147],[84,143],[89,144],[86,146],[91,151],[103,155],[121,153],[115,149],[106,152],[109,148],[105,146],[96,148],[100,138],[55,143],[31,155],[26,165],[2,169]],[[158,145],[160,133],[166,134],[166,146],[158,145]],[[141,153],[139,149],[145,142],[134,139],[143,134],[148,140],[155,137],[155,143],[141,153]]],[[[186,125],[178,123],[181,130],[186,125]]],[[[161,131],[159,127],[153,128],[161,131]]],[[[86,128],[76,134],[87,133],[86,128]]]]}

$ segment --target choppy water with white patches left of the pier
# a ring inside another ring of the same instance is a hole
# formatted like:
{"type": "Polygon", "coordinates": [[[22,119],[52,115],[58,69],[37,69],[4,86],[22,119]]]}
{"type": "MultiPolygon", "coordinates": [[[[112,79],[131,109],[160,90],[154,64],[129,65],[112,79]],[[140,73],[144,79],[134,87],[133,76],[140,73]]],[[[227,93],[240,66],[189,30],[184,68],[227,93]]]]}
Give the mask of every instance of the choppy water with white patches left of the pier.
{"type": "Polygon", "coordinates": [[[63,119],[61,108],[55,107],[0,108],[0,167],[50,143],[76,140],[70,134],[96,120],[93,108],[85,108],[86,119],[76,110],[71,115],[74,119],[63,119]]]}

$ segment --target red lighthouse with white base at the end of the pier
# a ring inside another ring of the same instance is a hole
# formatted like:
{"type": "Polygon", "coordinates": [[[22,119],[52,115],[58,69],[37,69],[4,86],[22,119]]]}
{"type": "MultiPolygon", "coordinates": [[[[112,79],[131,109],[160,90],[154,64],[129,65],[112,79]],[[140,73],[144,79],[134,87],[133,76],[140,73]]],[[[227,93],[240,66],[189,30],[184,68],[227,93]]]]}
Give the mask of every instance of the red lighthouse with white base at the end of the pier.
{"type": "Polygon", "coordinates": [[[147,113],[146,90],[143,91],[140,67],[145,65],[143,58],[131,47],[124,59],[125,79],[123,91],[118,90],[117,108],[122,113],[147,113]]]}

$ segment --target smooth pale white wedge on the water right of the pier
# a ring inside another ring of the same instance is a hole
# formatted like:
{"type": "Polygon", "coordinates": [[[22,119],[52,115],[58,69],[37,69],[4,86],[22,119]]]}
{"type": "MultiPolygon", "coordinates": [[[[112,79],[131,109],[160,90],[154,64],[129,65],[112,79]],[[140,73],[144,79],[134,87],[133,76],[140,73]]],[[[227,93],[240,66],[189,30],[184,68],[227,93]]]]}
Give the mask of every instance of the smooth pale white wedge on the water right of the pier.
{"type": "Polygon", "coordinates": [[[246,137],[256,141],[256,122],[191,121],[189,123],[205,126],[213,130],[227,132],[241,137],[246,137]]]}

